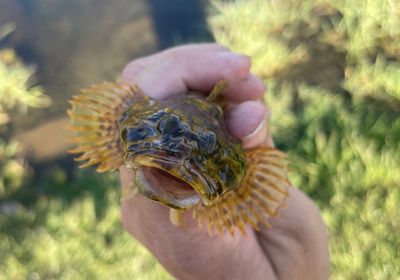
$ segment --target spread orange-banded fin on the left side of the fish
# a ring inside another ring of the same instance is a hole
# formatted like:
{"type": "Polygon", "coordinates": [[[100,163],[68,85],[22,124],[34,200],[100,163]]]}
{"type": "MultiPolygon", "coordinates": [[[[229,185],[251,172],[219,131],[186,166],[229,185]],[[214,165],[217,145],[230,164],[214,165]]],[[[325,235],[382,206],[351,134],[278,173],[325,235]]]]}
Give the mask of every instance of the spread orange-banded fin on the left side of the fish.
{"type": "Polygon", "coordinates": [[[70,101],[68,110],[77,145],[70,153],[83,161],[80,167],[97,165],[98,172],[115,170],[123,164],[118,119],[140,96],[137,87],[124,83],[102,83],[83,89],[70,101]]]}

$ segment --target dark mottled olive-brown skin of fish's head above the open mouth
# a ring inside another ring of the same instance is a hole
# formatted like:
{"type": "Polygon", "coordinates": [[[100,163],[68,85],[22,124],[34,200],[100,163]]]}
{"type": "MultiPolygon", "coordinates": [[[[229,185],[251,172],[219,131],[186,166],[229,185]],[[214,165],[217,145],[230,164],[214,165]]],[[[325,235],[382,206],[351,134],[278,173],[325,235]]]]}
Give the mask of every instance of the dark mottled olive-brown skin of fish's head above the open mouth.
{"type": "Polygon", "coordinates": [[[136,102],[121,116],[119,130],[127,165],[146,154],[172,157],[203,173],[206,185],[190,172],[159,166],[191,185],[204,203],[238,187],[246,173],[241,142],[229,134],[222,109],[198,95],[136,102]]]}

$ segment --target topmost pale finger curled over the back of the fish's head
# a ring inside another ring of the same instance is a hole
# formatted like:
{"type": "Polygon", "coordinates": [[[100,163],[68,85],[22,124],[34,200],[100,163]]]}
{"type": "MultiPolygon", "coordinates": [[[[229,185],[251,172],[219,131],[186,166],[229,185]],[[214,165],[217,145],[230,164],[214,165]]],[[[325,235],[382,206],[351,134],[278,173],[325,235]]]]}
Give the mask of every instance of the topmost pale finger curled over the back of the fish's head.
{"type": "Polygon", "coordinates": [[[187,51],[171,53],[133,80],[125,81],[138,84],[152,98],[163,99],[187,91],[210,92],[221,80],[234,87],[248,77],[249,69],[250,59],[244,55],[187,51]]]}

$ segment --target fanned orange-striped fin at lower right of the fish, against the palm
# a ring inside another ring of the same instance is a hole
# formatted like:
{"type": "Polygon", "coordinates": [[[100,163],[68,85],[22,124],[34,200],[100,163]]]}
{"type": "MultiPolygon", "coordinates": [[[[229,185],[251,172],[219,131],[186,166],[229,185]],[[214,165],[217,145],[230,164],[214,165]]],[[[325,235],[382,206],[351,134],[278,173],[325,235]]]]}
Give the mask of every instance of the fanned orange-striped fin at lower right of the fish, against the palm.
{"type": "Polygon", "coordinates": [[[210,235],[216,231],[222,235],[226,230],[233,236],[235,228],[246,235],[251,225],[270,226],[268,218],[276,216],[288,196],[290,183],[287,179],[285,153],[262,147],[246,151],[248,170],[240,186],[225,194],[212,206],[199,206],[193,211],[199,226],[207,225],[210,235]]]}

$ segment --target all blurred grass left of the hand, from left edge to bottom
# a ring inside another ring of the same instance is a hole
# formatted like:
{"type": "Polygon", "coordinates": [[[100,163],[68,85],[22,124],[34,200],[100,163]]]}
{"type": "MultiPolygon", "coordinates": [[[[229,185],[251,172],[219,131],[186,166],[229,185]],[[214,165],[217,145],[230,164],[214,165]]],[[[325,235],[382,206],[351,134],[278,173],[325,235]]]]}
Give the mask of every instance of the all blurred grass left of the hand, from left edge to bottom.
{"type": "Polygon", "coordinates": [[[76,171],[67,182],[52,168],[31,176],[9,132],[14,117],[50,104],[31,86],[33,74],[14,50],[0,50],[0,279],[171,279],[123,232],[116,174],[76,171]]]}

